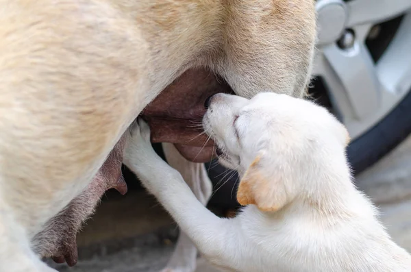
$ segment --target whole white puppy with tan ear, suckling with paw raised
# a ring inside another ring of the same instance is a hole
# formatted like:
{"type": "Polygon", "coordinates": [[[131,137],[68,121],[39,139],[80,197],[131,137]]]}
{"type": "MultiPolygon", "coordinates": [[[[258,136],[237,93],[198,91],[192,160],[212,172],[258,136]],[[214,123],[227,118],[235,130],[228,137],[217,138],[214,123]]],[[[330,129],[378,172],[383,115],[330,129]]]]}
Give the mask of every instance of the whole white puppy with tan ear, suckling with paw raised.
{"type": "Polygon", "coordinates": [[[125,163],[195,243],[224,271],[411,271],[410,255],[351,182],[349,136],[310,101],[262,93],[214,95],[203,119],[221,163],[240,173],[247,207],[221,219],[192,194],[149,144],[142,121],[127,139],[125,163]]]}

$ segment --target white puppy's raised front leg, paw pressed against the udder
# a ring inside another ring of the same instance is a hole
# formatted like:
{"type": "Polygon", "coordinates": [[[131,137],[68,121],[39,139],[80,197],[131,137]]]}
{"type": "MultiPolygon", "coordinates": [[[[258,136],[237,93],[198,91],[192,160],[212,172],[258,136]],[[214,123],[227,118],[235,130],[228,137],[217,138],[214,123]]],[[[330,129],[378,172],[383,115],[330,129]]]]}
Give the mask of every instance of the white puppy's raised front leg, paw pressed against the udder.
{"type": "Polygon", "coordinates": [[[221,267],[237,266],[245,248],[235,221],[216,217],[192,193],[182,175],[153,150],[149,127],[139,120],[125,146],[124,163],[138,175],[142,184],[169,211],[197,249],[210,262],[221,267]]]}

